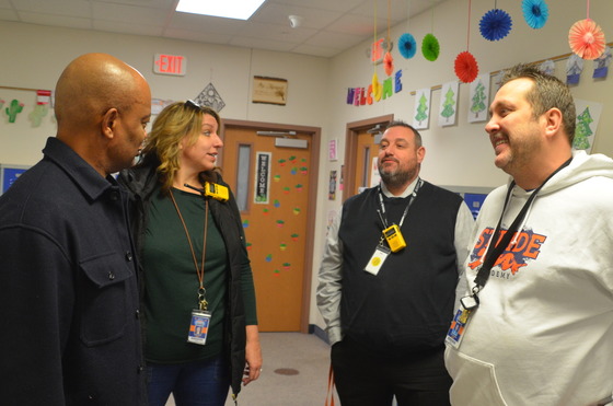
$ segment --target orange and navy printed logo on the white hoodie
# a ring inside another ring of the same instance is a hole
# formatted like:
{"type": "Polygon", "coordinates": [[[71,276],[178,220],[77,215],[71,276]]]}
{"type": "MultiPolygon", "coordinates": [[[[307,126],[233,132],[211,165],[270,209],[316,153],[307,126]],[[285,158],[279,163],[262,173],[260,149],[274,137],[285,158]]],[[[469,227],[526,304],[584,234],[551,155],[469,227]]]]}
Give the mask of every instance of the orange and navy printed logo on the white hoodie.
{"type": "MultiPolygon", "coordinates": [[[[500,241],[507,233],[507,230],[500,231],[500,241]]],[[[489,240],[494,234],[493,228],[482,231],[473,252],[471,253],[471,262],[469,267],[475,269],[483,264],[485,253],[489,246],[489,240]]],[[[528,265],[528,260],[536,259],[541,253],[541,246],[547,237],[536,234],[531,230],[524,230],[516,233],[509,243],[509,246],[500,254],[494,266],[491,267],[491,276],[509,279],[510,275],[516,275],[522,267],[528,265]],[[496,271],[495,268],[499,268],[496,271]]]]}

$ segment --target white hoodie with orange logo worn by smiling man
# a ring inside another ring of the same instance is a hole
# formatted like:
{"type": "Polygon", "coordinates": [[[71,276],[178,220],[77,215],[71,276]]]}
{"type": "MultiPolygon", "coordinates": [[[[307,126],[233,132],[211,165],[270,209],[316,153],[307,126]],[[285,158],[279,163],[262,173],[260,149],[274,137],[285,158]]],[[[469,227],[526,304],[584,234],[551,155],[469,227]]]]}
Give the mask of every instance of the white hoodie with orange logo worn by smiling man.
{"type": "MultiPolygon", "coordinates": [[[[477,218],[474,286],[507,186],[477,218]]],[[[530,196],[516,186],[501,229],[530,196]]],[[[585,406],[613,393],[613,161],[575,152],[536,196],[514,245],[491,268],[458,349],[454,406],[585,406]]]]}

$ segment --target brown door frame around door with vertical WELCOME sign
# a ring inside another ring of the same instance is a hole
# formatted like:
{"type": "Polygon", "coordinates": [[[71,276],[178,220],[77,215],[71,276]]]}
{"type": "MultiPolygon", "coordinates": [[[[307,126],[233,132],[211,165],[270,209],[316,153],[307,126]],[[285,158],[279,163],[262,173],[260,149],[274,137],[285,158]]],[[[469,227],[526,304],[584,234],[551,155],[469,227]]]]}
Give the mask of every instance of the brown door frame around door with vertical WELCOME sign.
{"type": "MultiPolygon", "coordinates": [[[[311,163],[309,170],[309,194],[307,199],[307,235],[304,236],[304,272],[302,280],[302,309],[300,311],[300,333],[309,333],[309,316],[311,310],[311,281],[313,279],[313,246],[315,242],[315,219],[317,207],[317,179],[320,176],[320,147],[322,129],[320,127],[307,127],[287,124],[248,121],[239,119],[222,119],[220,128],[220,137],[223,140],[225,129],[246,128],[273,131],[297,131],[305,132],[311,136],[311,163]]],[[[223,162],[220,161],[223,169],[223,162]]],[[[257,292],[256,292],[257,299],[257,292]]]]}

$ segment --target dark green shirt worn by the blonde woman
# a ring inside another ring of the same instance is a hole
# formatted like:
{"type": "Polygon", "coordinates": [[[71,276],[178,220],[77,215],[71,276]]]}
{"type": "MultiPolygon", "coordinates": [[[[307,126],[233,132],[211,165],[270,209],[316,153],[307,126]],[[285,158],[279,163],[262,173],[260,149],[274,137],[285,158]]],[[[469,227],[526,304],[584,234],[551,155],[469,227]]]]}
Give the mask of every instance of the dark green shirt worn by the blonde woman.
{"type": "MultiPolygon", "coordinates": [[[[203,257],[205,200],[200,195],[173,189],[185,220],[198,267],[203,257]]],[[[158,363],[181,363],[218,356],[223,346],[223,322],[227,305],[229,264],[225,244],[208,211],[204,287],[208,311],[212,313],[206,345],[187,343],[192,311],[198,309],[199,281],[185,229],[172,200],[155,193],[149,208],[144,233],[146,269],[144,316],[147,327],[146,358],[158,363]]],[[[248,324],[256,324],[255,293],[248,266],[248,278],[241,278],[248,324]],[[245,286],[248,285],[248,286],[245,286]]]]}

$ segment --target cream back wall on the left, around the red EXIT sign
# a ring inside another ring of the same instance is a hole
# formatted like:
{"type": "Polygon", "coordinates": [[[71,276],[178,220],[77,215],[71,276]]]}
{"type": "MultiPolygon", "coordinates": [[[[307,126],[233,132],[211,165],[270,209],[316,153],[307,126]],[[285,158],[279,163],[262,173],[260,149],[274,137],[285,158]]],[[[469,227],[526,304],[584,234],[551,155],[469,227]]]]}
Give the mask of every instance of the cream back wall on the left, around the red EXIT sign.
{"type": "MultiPolygon", "coordinates": [[[[194,98],[212,82],[225,103],[222,118],[315,127],[324,124],[325,106],[314,103],[326,91],[329,60],[324,58],[12,22],[0,22],[0,37],[4,38],[0,42],[0,86],[53,90],[70,60],[85,53],[107,53],[137,68],[157,98],[194,98]],[[185,56],[187,74],[153,73],[154,54],[185,56]],[[254,76],[287,79],[287,105],[252,104],[254,76]]],[[[27,115],[35,103],[34,92],[0,88],[0,98],[7,102],[4,107],[13,98],[25,104],[14,124],[8,124],[2,109],[0,163],[35,163],[46,138],[55,135],[53,112],[39,127],[33,127],[27,115]]]]}

